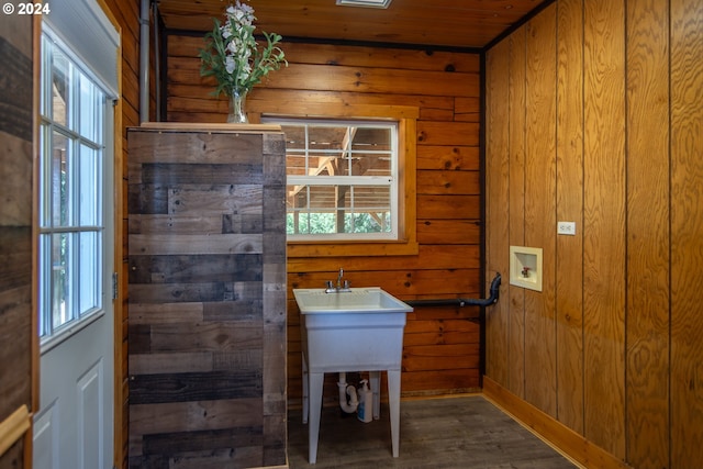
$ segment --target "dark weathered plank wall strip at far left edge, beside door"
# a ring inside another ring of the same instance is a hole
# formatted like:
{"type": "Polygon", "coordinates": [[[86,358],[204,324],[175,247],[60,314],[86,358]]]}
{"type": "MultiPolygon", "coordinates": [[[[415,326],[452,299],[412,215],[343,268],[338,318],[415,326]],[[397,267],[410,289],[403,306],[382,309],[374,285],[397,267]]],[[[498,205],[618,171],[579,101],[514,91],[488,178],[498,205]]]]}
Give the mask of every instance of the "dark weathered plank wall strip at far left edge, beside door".
{"type": "Polygon", "coordinates": [[[31,16],[0,16],[0,468],[8,469],[31,466],[24,457],[32,432],[29,440],[22,435],[31,424],[29,410],[38,401],[32,386],[37,365],[32,301],[34,24],[31,16]],[[11,418],[20,414],[19,421],[11,418]]]}

